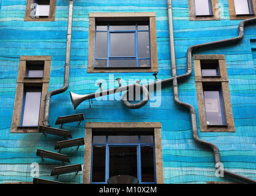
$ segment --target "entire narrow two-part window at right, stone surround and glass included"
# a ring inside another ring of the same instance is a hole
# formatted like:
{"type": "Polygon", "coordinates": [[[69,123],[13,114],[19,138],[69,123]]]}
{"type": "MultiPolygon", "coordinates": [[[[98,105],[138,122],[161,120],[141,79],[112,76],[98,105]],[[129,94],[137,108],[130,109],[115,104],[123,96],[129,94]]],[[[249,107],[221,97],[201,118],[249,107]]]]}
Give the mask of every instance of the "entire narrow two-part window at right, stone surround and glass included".
{"type": "Polygon", "coordinates": [[[224,55],[194,55],[201,132],[234,132],[224,55]]]}

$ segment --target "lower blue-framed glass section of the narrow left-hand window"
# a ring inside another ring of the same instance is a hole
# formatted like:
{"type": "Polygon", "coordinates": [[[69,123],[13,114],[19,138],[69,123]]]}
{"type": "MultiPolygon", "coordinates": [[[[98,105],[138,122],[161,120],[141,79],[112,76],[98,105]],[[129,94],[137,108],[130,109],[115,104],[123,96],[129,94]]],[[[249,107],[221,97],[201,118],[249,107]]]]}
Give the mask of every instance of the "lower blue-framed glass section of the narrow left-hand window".
{"type": "Polygon", "coordinates": [[[42,88],[25,87],[23,94],[20,126],[37,127],[39,124],[42,88]]]}

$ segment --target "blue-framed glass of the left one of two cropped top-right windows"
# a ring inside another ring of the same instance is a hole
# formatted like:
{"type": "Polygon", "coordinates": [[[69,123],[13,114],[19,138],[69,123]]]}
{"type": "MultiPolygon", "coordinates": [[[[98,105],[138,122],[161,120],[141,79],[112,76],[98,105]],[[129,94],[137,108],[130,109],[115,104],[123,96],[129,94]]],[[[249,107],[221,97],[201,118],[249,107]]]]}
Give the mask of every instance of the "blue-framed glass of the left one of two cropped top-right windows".
{"type": "Polygon", "coordinates": [[[194,0],[194,11],[197,17],[212,16],[212,1],[194,0]]]}

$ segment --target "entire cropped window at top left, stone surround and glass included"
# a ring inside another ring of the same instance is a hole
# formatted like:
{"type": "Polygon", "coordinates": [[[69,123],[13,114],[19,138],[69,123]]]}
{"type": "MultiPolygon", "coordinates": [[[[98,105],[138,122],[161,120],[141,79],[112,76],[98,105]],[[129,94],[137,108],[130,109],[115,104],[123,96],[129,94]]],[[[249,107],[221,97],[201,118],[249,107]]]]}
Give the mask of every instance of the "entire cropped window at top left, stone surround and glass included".
{"type": "Polygon", "coordinates": [[[54,21],[56,0],[26,0],[24,21],[54,21]]]}

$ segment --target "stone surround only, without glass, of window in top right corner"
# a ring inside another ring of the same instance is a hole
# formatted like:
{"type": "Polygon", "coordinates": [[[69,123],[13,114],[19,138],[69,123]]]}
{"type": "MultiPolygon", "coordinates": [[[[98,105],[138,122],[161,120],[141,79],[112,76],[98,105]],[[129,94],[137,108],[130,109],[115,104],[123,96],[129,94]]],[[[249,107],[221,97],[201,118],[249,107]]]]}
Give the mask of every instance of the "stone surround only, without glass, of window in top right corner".
{"type": "Polygon", "coordinates": [[[230,20],[244,20],[248,18],[254,18],[256,14],[256,1],[251,0],[250,3],[252,4],[252,14],[248,15],[236,15],[236,9],[234,8],[234,0],[228,0],[228,10],[230,11],[230,20]]]}

